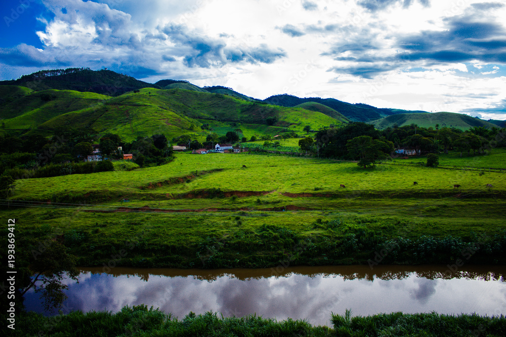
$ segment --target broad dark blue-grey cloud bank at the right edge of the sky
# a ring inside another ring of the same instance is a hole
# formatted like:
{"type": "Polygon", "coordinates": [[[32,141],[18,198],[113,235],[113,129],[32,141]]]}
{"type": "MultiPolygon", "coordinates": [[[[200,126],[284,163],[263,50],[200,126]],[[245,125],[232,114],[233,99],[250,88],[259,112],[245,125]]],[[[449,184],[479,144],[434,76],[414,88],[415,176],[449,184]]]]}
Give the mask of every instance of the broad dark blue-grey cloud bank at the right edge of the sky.
{"type": "Polygon", "coordinates": [[[385,41],[375,39],[371,34],[355,33],[349,34],[351,37],[346,41],[335,43],[322,55],[351,63],[350,66],[333,67],[330,71],[365,78],[413,65],[423,67],[470,61],[506,63],[506,28],[501,24],[471,15],[447,18],[444,23],[445,30],[392,36],[395,54],[377,56],[385,41]]]}

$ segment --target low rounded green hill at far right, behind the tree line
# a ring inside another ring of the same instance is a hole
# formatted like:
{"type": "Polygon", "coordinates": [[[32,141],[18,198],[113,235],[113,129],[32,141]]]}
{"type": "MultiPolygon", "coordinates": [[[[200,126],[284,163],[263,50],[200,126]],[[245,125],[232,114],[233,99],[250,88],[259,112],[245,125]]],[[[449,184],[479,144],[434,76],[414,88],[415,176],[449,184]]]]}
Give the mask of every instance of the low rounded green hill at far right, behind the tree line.
{"type": "Polygon", "coordinates": [[[411,125],[412,123],[421,127],[454,127],[460,130],[467,130],[474,126],[484,126],[486,128],[497,127],[487,121],[474,118],[471,116],[456,114],[452,112],[436,112],[430,114],[399,114],[393,115],[379,120],[371,121],[377,129],[386,129],[387,127],[411,125]]]}

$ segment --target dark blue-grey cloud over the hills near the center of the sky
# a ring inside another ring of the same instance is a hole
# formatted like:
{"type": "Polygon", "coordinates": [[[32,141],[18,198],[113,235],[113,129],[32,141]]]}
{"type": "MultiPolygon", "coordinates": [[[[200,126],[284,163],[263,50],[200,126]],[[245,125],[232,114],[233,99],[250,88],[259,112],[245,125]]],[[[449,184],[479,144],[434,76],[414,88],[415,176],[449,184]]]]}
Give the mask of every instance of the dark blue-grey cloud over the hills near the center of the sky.
{"type": "Polygon", "coordinates": [[[223,40],[191,32],[181,25],[167,25],[162,31],[176,43],[188,67],[210,68],[242,61],[272,63],[286,56],[281,49],[272,49],[266,44],[227,46],[223,40]]]}

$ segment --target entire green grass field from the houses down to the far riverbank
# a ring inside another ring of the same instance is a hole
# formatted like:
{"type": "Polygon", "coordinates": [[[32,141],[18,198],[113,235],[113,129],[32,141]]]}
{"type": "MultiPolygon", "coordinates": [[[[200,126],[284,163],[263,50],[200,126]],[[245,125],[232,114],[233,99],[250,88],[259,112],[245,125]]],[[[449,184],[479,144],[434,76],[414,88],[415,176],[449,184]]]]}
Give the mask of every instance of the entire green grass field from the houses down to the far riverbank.
{"type": "MultiPolygon", "coordinates": [[[[493,163],[503,155],[491,155],[493,163]]],[[[505,177],[461,169],[382,164],[364,170],[332,160],[181,153],[158,167],[17,180],[11,207],[3,213],[19,219],[27,242],[62,228],[81,265],[100,265],[129,238],[139,244],[121,263],[140,267],[266,267],[301,242],[313,248],[293,264],[366,263],[386,240],[397,239],[404,248],[389,263],[448,263],[477,234],[488,235],[492,248],[474,261],[502,263],[506,255],[494,249],[506,247],[506,235],[500,236],[506,230],[505,177]],[[16,200],[32,207],[13,209],[21,206],[16,200]],[[213,259],[202,264],[202,252],[208,250],[213,259]]]]}

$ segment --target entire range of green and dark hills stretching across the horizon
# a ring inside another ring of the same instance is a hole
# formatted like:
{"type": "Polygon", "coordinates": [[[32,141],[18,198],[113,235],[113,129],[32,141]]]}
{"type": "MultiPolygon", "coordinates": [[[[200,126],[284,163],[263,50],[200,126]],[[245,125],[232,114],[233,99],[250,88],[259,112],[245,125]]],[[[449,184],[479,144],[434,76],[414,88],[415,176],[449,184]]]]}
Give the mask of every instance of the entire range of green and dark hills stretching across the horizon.
{"type": "MultiPolygon", "coordinates": [[[[51,134],[58,127],[91,127],[133,139],[165,133],[176,136],[240,130],[275,135],[318,129],[350,121],[385,128],[397,124],[469,128],[503,126],[462,114],[375,108],[336,99],[299,98],[282,94],[266,100],[224,86],[199,87],[186,80],[147,83],[110,70],[69,68],[38,71],[17,80],[0,81],[0,133],[10,130],[51,134]]],[[[502,125],[501,125],[502,124],[502,125]]],[[[239,131],[237,131],[239,132],[239,131]]]]}

